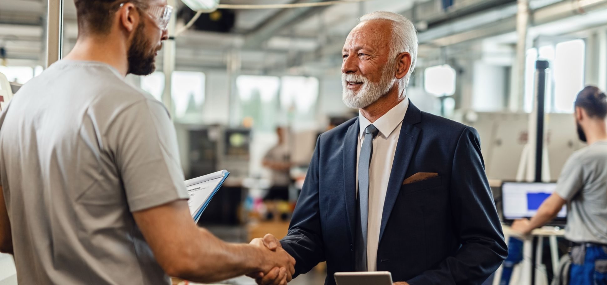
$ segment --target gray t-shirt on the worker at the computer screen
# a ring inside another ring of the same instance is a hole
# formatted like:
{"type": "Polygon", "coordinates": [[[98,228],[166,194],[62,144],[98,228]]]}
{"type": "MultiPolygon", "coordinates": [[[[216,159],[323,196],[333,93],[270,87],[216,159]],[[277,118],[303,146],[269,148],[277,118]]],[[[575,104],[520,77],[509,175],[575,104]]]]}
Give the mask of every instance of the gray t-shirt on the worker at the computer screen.
{"type": "Polygon", "coordinates": [[[565,238],[607,244],[607,142],[592,143],[572,154],[556,193],[569,201],[565,238]]]}

